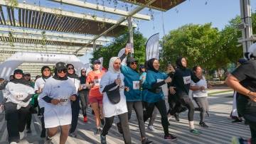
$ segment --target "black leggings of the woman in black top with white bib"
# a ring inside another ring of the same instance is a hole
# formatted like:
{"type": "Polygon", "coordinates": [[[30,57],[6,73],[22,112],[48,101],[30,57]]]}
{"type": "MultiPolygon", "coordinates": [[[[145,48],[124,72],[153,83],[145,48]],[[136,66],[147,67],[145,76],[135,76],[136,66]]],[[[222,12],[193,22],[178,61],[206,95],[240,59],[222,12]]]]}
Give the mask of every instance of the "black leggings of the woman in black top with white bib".
{"type": "Polygon", "coordinates": [[[195,113],[195,106],[193,105],[193,102],[188,101],[187,98],[186,99],[181,98],[176,101],[174,109],[171,109],[171,111],[170,111],[171,116],[174,116],[175,113],[177,113],[178,111],[181,111],[181,109],[184,106],[188,109],[188,121],[193,121],[193,115],[195,113]]]}

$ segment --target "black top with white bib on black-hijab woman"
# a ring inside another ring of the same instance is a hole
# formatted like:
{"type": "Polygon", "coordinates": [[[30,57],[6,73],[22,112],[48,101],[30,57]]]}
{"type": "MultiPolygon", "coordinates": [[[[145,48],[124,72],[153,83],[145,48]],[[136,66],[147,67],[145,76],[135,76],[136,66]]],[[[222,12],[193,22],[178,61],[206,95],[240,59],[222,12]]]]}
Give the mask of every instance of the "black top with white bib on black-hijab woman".
{"type": "Polygon", "coordinates": [[[188,94],[189,87],[191,84],[191,79],[193,82],[199,82],[200,79],[196,77],[196,74],[194,74],[191,70],[181,70],[180,68],[177,68],[174,73],[174,79],[171,84],[171,86],[176,87],[175,91],[178,93],[185,92],[188,94]]]}

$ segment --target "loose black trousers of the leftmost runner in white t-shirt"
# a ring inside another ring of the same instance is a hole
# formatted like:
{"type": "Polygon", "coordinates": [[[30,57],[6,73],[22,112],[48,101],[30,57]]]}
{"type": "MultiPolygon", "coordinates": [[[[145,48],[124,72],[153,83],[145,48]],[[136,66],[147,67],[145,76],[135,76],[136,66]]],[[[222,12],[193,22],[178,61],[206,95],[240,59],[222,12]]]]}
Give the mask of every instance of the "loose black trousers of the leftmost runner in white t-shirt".
{"type": "Polygon", "coordinates": [[[26,118],[30,105],[21,107],[21,109],[16,109],[17,104],[12,102],[7,102],[5,104],[5,113],[7,121],[7,131],[8,131],[8,140],[11,142],[19,142],[20,135],[19,132],[23,132],[26,126],[26,118]]]}

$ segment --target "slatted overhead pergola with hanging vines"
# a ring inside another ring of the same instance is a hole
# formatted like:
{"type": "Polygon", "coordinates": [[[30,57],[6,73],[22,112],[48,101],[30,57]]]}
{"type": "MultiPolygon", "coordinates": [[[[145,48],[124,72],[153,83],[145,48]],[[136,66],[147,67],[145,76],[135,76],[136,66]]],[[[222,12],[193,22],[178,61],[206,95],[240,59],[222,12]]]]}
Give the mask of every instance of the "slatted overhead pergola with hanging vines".
{"type": "MultiPolygon", "coordinates": [[[[149,21],[144,9],[168,11],[186,0],[1,0],[0,62],[18,51],[73,54],[95,50],[129,28],[134,21],[149,21]],[[122,7],[126,8],[122,8],[122,7]],[[128,9],[129,7],[129,9],[128,9]]],[[[54,64],[23,63],[20,68],[41,75],[41,67],[54,64]]]]}

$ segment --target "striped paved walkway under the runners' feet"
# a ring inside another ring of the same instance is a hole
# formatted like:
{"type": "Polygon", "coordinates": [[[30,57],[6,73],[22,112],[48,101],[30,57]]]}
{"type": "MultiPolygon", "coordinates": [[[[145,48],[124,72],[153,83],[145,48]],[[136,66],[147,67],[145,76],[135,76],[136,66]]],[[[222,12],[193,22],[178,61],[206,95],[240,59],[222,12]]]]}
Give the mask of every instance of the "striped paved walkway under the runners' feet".
{"type": "MultiPolygon", "coordinates": [[[[227,89],[213,89],[210,92],[219,92],[227,89]]],[[[210,104],[210,117],[206,116],[206,124],[209,128],[202,128],[198,126],[200,121],[199,112],[196,111],[194,116],[195,126],[198,130],[202,131],[201,135],[193,135],[188,132],[188,120],[187,111],[180,114],[181,121],[175,121],[175,118],[171,118],[169,126],[169,131],[178,136],[176,142],[166,142],[164,141],[164,131],[161,126],[161,117],[158,113],[156,121],[154,123],[154,128],[156,128],[157,133],[146,131],[146,135],[154,143],[195,143],[195,144],[206,144],[206,143],[231,143],[230,138],[233,136],[242,136],[242,138],[250,138],[249,126],[244,126],[243,123],[231,123],[231,119],[228,119],[230,111],[232,109],[233,99],[225,96],[231,96],[233,92],[227,92],[223,94],[215,94],[208,96],[208,102],[210,104]]],[[[90,114],[91,109],[87,109],[89,113],[88,123],[84,123],[82,120],[82,114],[80,113],[78,121],[78,138],[68,137],[67,143],[100,143],[100,136],[94,135],[96,130],[94,116],[90,114]]],[[[118,121],[118,118],[114,118],[114,123],[118,121]]],[[[132,119],[129,121],[129,128],[132,135],[133,143],[141,143],[141,136],[139,133],[139,127],[137,124],[136,116],[132,113],[132,119]]],[[[147,122],[145,127],[147,126],[147,122]]],[[[32,133],[25,133],[25,137],[21,140],[21,144],[25,143],[35,143],[42,144],[43,138],[40,138],[41,124],[37,115],[33,115],[33,123],[31,125],[32,133]]],[[[53,138],[53,143],[59,142],[59,135],[55,135],[53,138]]],[[[4,116],[0,116],[0,144],[8,143],[8,135],[6,130],[6,121],[4,121],[4,116]]],[[[119,144],[123,143],[122,135],[119,135],[116,131],[115,124],[109,131],[107,135],[107,143],[119,144]]]]}

